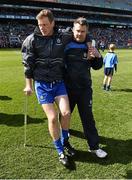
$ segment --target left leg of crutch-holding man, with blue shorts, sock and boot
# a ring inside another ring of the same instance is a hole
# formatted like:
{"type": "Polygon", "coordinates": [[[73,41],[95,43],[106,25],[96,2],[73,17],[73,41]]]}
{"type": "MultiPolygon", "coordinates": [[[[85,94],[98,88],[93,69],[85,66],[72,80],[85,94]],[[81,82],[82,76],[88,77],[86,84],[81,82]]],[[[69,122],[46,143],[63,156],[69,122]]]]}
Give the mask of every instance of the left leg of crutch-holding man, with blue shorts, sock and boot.
{"type": "Polygon", "coordinates": [[[53,139],[54,146],[59,155],[59,161],[63,165],[68,165],[68,159],[64,154],[64,147],[60,138],[60,126],[57,119],[57,112],[54,107],[53,86],[51,83],[35,82],[35,91],[39,103],[48,118],[49,133],[53,139]]]}

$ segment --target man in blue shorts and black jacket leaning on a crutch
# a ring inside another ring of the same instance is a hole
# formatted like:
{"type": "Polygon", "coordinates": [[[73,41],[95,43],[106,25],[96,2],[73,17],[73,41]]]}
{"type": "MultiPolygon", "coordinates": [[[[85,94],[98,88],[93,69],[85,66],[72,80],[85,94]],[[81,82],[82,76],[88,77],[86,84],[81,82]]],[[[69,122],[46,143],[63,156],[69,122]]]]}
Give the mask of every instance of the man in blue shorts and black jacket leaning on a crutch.
{"type": "Polygon", "coordinates": [[[26,95],[32,94],[32,81],[34,81],[35,92],[48,118],[49,132],[59,154],[59,161],[67,166],[68,158],[64,149],[71,156],[75,154],[68,142],[70,107],[63,82],[64,46],[69,37],[58,34],[54,30],[55,22],[50,10],[40,11],[36,19],[38,28],[26,38],[22,45],[26,79],[24,92],[26,95]],[[58,113],[54,102],[61,113],[60,124],[58,124],[58,113]]]}

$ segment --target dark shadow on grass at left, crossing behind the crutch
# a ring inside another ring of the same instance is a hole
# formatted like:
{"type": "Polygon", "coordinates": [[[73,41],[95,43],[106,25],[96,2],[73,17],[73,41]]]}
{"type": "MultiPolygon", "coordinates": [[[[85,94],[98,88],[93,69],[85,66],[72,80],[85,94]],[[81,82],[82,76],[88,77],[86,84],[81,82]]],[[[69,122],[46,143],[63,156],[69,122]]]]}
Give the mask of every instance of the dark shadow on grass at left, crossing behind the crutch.
{"type": "MultiPolygon", "coordinates": [[[[46,119],[46,118],[45,118],[46,119]]],[[[28,124],[38,124],[44,123],[44,119],[27,117],[28,124]]],[[[7,126],[23,126],[24,125],[24,115],[23,114],[4,114],[0,113],[0,124],[5,124],[7,126]]]]}

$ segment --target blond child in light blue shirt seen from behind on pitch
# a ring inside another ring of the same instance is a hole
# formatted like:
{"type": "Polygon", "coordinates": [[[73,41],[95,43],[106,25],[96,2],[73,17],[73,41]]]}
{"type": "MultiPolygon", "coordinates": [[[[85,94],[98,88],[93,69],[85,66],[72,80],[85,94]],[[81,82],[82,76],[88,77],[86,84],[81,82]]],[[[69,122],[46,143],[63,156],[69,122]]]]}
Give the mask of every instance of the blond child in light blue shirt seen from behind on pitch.
{"type": "Polygon", "coordinates": [[[104,62],[104,80],[103,80],[103,89],[106,91],[110,90],[112,76],[115,71],[117,71],[117,55],[114,52],[115,44],[109,45],[109,52],[105,55],[103,62],[104,62]]]}

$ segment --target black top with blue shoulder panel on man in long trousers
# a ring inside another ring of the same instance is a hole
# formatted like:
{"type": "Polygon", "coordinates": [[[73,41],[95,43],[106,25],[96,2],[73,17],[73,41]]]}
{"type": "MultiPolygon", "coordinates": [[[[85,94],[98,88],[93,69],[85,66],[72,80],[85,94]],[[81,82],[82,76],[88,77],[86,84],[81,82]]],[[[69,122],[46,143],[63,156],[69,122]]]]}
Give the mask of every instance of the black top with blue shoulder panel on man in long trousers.
{"type": "Polygon", "coordinates": [[[91,67],[95,70],[103,65],[103,58],[87,59],[87,44],[72,41],[65,48],[65,84],[68,89],[79,90],[92,85],[91,67]]]}

